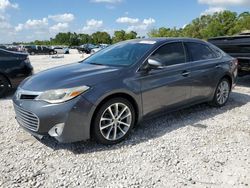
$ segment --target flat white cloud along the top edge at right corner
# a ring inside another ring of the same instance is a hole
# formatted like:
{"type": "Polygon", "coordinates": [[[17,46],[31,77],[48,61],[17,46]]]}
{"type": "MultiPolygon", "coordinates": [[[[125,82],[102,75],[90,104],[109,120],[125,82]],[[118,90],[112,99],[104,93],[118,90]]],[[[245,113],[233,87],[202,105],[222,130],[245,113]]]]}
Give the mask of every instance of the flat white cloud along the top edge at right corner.
{"type": "Polygon", "coordinates": [[[207,4],[210,6],[248,6],[249,0],[198,0],[201,4],[207,4]]]}

